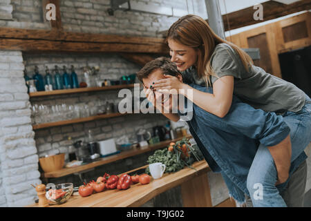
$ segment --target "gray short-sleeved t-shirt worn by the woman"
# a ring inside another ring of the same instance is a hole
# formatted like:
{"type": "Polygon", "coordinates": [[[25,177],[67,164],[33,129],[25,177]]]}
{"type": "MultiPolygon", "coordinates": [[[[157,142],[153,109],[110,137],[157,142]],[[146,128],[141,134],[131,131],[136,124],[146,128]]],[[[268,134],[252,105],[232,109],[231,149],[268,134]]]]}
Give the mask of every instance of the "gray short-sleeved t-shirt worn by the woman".
{"type": "MultiPolygon", "coordinates": [[[[266,73],[263,68],[252,66],[245,70],[243,63],[228,44],[222,43],[215,47],[211,55],[211,67],[218,77],[231,75],[234,77],[234,95],[243,102],[261,108],[263,111],[284,113],[298,112],[305,105],[305,93],[294,84],[266,73]]],[[[191,67],[182,73],[187,81],[203,85],[196,69],[191,67]],[[189,76],[192,75],[192,76],[189,76]]],[[[211,76],[211,83],[218,80],[211,76]]]]}

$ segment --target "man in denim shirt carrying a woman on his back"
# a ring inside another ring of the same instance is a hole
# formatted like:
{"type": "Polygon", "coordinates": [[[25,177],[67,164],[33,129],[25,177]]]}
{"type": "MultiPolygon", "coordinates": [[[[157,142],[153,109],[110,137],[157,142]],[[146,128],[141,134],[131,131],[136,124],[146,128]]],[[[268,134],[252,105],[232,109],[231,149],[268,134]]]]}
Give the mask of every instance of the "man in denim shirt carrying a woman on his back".
{"type": "MultiPolygon", "coordinates": [[[[173,75],[182,81],[182,75],[176,66],[164,57],[146,64],[138,72],[138,79],[144,84],[145,93],[153,106],[176,122],[184,114],[181,110],[178,114],[167,113],[167,110],[173,109],[173,96],[162,98],[161,93],[152,90],[153,82],[164,79],[164,75],[173,75]],[[157,103],[160,106],[156,105],[157,103]]],[[[211,88],[198,86],[192,82],[189,82],[189,85],[197,90],[212,93],[211,88]]],[[[189,106],[188,103],[186,104],[189,106]]],[[[189,108],[187,110],[189,114],[189,108]]],[[[187,124],[211,170],[223,175],[232,198],[237,204],[245,204],[248,200],[247,205],[250,206],[249,198],[245,200],[245,194],[250,194],[246,184],[249,168],[260,144],[274,146],[288,136],[290,129],[283,118],[275,113],[256,110],[233,97],[230,111],[223,118],[207,113],[194,104],[193,115],[187,119],[187,124]]],[[[278,188],[288,206],[303,204],[306,157],[304,152],[299,154],[291,164],[290,178],[278,188]]]]}

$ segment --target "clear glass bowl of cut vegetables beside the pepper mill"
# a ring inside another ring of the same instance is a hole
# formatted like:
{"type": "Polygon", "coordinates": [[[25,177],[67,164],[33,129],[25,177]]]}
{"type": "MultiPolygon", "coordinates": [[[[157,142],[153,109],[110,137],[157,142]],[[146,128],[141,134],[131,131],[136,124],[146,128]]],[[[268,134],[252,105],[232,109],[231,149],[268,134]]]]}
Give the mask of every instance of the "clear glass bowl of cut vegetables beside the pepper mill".
{"type": "Polygon", "coordinates": [[[46,189],[46,199],[49,204],[62,204],[73,194],[73,183],[53,185],[51,189],[46,189]]]}

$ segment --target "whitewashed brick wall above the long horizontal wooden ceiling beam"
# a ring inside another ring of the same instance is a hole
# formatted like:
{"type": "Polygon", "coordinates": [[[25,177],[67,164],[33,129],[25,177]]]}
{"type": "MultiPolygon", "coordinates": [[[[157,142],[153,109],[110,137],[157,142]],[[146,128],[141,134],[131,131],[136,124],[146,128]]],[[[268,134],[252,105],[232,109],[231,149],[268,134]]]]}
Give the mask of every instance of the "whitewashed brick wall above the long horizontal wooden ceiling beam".
{"type": "MultiPolygon", "coordinates": [[[[0,26],[30,29],[50,28],[49,23],[44,21],[41,0],[2,1],[10,1],[9,7],[12,9],[12,13],[10,12],[8,15],[14,20],[1,20],[0,17],[0,26]]],[[[187,0],[137,1],[150,5],[150,7],[156,5],[187,10],[187,0]]],[[[178,17],[169,17],[166,15],[149,14],[147,12],[124,12],[121,10],[116,10],[115,15],[109,16],[107,12],[108,8],[110,8],[110,0],[61,0],[60,9],[63,28],[64,30],[73,32],[160,37],[158,32],[167,30],[171,26],[171,23],[178,19],[178,17]]],[[[193,11],[190,10],[189,12],[193,11]]]]}

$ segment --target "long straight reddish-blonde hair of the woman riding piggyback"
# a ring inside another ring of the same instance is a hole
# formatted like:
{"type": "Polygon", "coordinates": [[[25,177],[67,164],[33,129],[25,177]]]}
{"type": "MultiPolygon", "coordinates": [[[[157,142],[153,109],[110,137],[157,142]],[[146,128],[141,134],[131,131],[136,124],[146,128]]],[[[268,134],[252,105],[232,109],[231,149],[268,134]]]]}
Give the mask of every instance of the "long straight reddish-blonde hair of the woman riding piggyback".
{"type": "Polygon", "coordinates": [[[166,41],[168,39],[191,48],[198,48],[198,61],[196,65],[198,77],[203,77],[205,83],[210,86],[210,76],[218,77],[211,68],[210,60],[216,45],[226,43],[231,46],[241,57],[243,66],[247,71],[249,71],[251,64],[254,64],[252,58],[246,52],[235,44],[218,37],[211,30],[207,21],[196,15],[185,15],[173,23],[167,32],[166,41]]]}

